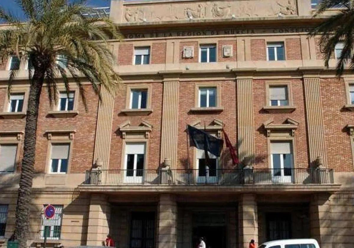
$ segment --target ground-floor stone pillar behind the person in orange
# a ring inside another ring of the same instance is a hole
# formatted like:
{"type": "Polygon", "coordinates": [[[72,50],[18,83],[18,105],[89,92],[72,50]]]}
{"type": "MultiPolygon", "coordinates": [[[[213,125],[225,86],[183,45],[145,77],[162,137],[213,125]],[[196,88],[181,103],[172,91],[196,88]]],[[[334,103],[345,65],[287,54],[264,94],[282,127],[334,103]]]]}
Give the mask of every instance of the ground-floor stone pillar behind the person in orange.
{"type": "Polygon", "coordinates": [[[239,248],[247,248],[251,239],[258,243],[256,195],[244,194],[239,202],[239,248]]]}

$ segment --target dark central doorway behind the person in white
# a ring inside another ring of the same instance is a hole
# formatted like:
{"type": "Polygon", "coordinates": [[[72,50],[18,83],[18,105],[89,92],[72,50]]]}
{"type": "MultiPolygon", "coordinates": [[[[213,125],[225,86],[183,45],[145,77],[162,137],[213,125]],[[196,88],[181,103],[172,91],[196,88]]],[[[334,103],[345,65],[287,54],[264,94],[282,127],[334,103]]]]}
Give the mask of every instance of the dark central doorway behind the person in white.
{"type": "Polygon", "coordinates": [[[198,226],[193,228],[193,248],[198,248],[199,238],[204,237],[206,248],[226,248],[225,226],[198,226]]]}

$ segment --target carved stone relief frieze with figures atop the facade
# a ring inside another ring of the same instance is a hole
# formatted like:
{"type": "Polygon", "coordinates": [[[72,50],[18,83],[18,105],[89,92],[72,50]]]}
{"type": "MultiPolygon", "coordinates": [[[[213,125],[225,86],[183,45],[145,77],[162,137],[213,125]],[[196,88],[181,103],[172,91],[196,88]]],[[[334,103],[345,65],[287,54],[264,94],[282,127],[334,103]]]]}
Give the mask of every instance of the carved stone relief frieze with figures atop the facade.
{"type": "Polygon", "coordinates": [[[125,4],[124,22],[297,15],[296,0],[190,1],[125,4]]]}

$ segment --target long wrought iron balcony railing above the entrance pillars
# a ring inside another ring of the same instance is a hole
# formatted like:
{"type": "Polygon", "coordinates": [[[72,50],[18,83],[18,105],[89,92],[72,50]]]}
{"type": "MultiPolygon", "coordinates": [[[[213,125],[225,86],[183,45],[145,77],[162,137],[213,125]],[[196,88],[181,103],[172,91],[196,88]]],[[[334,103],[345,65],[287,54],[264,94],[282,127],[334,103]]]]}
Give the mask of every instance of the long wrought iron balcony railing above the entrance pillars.
{"type": "Polygon", "coordinates": [[[160,169],[86,171],[86,185],[333,184],[332,169],[160,169]]]}

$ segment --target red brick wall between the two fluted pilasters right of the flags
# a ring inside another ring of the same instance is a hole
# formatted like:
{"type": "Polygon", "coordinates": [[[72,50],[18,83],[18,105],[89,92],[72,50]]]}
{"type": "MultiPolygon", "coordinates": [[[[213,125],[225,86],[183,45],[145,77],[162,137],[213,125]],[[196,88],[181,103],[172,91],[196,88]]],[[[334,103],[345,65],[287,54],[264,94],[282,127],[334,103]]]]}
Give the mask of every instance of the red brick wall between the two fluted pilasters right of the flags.
{"type": "Polygon", "coordinates": [[[308,167],[308,149],[306,136],[306,115],[304,109],[303,83],[300,79],[291,80],[293,103],[296,110],[292,113],[265,113],[262,107],[265,105],[265,80],[253,80],[253,113],[254,113],[254,137],[256,168],[269,168],[267,136],[263,130],[263,123],[274,119],[274,124],[281,124],[290,117],[299,122],[295,131],[295,164],[296,168],[308,167]]]}

